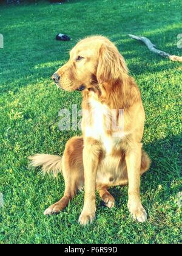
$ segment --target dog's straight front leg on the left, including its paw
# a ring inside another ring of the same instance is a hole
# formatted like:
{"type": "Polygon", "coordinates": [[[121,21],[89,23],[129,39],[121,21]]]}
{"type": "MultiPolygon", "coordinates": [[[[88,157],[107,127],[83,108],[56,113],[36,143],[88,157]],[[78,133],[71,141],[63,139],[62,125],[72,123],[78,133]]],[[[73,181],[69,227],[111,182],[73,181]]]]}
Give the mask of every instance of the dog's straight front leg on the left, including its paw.
{"type": "Polygon", "coordinates": [[[83,163],[84,163],[84,207],[79,216],[79,223],[87,225],[95,219],[95,187],[96,172],[98,169],[100,147],[92,138],[84,140],[83,163]]]}

